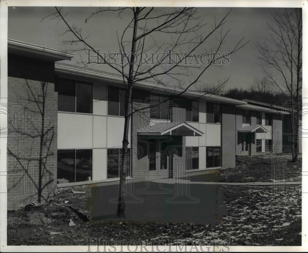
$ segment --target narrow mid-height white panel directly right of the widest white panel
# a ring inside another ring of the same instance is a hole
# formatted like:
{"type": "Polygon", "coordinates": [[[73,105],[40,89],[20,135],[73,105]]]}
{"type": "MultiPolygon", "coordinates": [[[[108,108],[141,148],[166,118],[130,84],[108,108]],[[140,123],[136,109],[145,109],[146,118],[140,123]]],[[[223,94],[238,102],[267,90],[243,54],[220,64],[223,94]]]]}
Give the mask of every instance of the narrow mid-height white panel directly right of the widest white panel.
{"type": "Polygon", "coordinates": [[[93,116],[93,148],[107,147],[107,117],[93,116]]]}

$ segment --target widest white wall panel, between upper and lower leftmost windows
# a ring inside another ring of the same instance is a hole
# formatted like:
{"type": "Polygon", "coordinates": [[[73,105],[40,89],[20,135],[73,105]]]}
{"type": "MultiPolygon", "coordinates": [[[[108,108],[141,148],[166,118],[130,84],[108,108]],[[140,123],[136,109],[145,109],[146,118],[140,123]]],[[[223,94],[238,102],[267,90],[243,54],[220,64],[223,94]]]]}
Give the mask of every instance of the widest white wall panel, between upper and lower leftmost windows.
{"type": "Polygon", "coordinates": [[[58,149],[92,148],[92,115],[58,112],[58,149]]]}

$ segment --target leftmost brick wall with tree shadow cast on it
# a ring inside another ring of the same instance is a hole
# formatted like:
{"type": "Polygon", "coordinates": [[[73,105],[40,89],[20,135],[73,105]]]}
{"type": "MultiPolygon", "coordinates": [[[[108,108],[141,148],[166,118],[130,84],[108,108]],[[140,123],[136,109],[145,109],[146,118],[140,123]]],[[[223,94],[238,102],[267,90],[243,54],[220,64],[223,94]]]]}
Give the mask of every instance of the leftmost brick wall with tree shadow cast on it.
{"type": "Polygon", "coordinates": [[[54,63],[9,55],[8,75],[8,203],[45,202],[57,174],[54,63]]]}

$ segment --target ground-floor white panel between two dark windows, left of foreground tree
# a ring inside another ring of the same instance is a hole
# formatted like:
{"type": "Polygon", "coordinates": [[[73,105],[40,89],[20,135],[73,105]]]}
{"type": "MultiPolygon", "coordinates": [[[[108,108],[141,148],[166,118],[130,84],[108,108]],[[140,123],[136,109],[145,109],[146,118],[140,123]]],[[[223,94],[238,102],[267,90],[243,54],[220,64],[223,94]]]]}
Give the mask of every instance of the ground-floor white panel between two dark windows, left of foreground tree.
{"type": "Polygon", "coordinates": [[[103,180],[107,178],[107,149],[93,149],[93,171],[92,180],[103,180]]]}

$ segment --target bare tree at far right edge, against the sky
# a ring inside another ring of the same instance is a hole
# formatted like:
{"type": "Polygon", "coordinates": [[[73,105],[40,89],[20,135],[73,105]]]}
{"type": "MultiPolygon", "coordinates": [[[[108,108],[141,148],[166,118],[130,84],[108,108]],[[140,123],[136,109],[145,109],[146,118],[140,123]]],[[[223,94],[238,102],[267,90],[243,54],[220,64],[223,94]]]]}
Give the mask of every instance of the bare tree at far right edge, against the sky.
{"type": "Polygon", "coordinates": [[[258,59],[267,79],[290,99],[292,160],[298,158],[298,126],[302,103],[302,9],[271,11],[270,39],[257,43],[258,59]]]}

